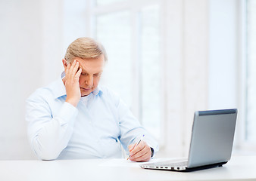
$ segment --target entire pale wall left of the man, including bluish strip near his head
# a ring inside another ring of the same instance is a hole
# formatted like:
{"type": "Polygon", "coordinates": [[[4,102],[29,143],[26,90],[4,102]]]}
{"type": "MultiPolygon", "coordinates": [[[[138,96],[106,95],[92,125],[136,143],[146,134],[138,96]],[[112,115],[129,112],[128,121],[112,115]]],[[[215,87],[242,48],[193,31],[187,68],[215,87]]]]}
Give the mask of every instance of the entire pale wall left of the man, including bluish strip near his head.
{"type": "Polygon", "coordinates": [[[35,158],[25,100],[60,75],[61,9],[58,1],[0,1],[0,159],[35,158]]]}

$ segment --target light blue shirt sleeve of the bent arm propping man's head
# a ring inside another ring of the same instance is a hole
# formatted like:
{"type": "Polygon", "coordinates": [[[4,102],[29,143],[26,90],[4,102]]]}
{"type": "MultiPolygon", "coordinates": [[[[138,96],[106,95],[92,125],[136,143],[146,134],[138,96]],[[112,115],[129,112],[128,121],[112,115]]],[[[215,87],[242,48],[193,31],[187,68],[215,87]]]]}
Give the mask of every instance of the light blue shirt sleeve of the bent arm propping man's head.
{"type": "Polygon", "coordinates": [[[42,97],[27,99],[26,120],[30,144],[42,160],[54,160],[67,146],[73,133],[73,121],[78,110],[64,102],[58,115],[52,116],[48,103],[42,97]]]}

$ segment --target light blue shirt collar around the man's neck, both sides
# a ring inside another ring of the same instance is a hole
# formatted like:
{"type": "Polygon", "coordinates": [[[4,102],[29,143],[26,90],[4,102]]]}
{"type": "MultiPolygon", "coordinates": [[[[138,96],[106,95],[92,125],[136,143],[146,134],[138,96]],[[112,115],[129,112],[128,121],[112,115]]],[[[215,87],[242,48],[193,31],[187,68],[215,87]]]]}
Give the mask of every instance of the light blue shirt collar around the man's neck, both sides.
{"type": "MultiPolygon", "coordinates": [[[[58,80],[56,81],[55,86],[52,89],[52,92],[54,94],[55,99],[57,99],[58,97],[62,97],[62,96],[66,96],[67,95],[66,94],[66,87],[65,87],[65,85],[64,85],[64,83],[62,81],[64,76],[65,76],[65,72],[62,72],[61,73],[61,77],[58,78],[58,80]]],[[[98,87],[95,88],[95,90],[93,90],[91,94],[93,94],[94,96],[97,96],[97,95],[101,96],[101,94],[102,94],[101,86],[98,85],[98,87]]]]}

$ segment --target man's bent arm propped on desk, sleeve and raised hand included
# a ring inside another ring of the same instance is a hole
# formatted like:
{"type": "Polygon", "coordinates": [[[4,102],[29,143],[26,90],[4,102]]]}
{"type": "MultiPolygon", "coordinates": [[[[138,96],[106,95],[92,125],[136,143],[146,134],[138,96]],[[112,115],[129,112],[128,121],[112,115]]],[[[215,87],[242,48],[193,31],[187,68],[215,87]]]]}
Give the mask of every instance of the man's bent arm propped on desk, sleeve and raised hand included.
{"type": "Polygon", "coordinates": [[[65,69],[67,99],[54,118],[48,103],[40,95],[27,100],[29,137],[34,152],[42,160],[58,158],[73,133],[73,121],[78,113],[76,105],[80,100],[81,69],[77,71],[78,67],[79,63],[74,61],[65,69]]]}

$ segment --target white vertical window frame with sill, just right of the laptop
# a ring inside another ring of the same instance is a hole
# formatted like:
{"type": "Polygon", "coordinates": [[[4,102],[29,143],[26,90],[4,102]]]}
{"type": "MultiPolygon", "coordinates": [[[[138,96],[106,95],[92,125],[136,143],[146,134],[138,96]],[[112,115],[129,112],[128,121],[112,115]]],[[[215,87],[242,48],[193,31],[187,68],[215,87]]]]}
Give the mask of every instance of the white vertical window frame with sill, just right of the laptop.
{"type": "Polygon", "coordinates": [[[247,50],[247,0],[239,0],[239,14],[238,14],[238,57],[239,63],[237,72],[239,72],[239,86],[237,87],[239,97],[239,114],[237,121],[237,133],[236,133],[236,151],[241,154],[254,155],[256,153],[256,143],[246,140],[246,119],[247,119],[247,62],[248,62],[248,50],[247,50]]]}

